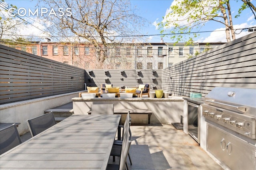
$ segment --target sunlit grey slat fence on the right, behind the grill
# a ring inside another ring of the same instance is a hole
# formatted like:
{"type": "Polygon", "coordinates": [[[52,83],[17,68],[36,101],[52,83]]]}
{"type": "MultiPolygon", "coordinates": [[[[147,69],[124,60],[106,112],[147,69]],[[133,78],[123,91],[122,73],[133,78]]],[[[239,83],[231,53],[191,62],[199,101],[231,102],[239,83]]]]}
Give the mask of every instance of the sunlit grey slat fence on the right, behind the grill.
{"type": "Polygon", "coordinates": [[[256,88],[256,32],[162,70],[162,88],[206,96],[214,87],[256,88]]]}

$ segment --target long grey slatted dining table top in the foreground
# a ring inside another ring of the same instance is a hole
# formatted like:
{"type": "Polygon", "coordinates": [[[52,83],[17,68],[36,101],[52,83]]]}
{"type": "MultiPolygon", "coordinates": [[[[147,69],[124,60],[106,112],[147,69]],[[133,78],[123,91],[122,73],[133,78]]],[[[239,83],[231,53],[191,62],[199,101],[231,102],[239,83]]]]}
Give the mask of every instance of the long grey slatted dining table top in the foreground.
{"type": "Polygon", "coordinates": [[[0,169],[106,169],[121,115],[72,115],[0,155],[0,169]]]}

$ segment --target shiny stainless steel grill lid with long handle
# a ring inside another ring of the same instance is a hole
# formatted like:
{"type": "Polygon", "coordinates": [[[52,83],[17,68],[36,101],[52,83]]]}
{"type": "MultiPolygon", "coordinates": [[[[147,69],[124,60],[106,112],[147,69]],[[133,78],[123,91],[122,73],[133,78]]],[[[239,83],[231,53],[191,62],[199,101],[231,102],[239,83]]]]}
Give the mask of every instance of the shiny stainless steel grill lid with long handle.
{"type": "Polygon", "coordinates": [[[206,95],[205,104],[256,117],[256,89],[215,87],[206,95]]]}

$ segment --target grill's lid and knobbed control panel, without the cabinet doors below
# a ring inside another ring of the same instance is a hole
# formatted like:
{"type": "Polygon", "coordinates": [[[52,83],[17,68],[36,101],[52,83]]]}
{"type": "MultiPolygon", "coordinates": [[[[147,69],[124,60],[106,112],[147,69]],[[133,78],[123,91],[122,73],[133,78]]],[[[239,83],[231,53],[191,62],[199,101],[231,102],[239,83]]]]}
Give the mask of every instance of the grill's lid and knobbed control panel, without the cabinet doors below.
{"type": "Polygon", "coordinates": [[[216,87],[202,107],[206,119],[256,139],[256,89],[216,87]]]}

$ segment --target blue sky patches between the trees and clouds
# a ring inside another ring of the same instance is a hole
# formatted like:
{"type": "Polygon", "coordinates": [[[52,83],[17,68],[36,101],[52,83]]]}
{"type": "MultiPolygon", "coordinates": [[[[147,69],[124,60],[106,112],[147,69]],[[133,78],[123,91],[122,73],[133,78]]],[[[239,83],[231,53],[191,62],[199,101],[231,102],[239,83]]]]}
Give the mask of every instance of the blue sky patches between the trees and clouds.
{"type": "MultiPolygon", "coordinates": [[[[14,4],[18,8],[35,8],[37,0],[5,0],[8,4],[14,4]]],[[[156,35],[160,34],[160,30],[156,28],[155,23],[162,21],[162,18],[166,15],[166,11],[170,9],[173,0],[131,0],[132,6],[136,6],[136,14],[146,18],[150,23],[148,26],[142,28],[143,35],[156,35]]],[[[251,0],[251,3],[256,6],[256,0],[251,0]]],[[[254,19],[252,11],[248,8],[246,9],[240,18],[235,19],[234,16],[237,14],[238,9],[242,5],[241,0],[230,0],[230,6],[232,9],[233,24],[234,28],[245,28],[256,26],[256,20],[254,19]]],[[[38,23],[34,23],[38,25],[38,23]]],[[[38,25],[40,27],[40,25],[38,25]]],[[[36,28],[30,28],[30,33],[39,35],[40,30],[35,30],[36,28]]],[[[214,31],[214,30],[224,30],[224,25],[217,23],[216,21],[208,22],[200,31],[214,31]]],[[[239,31],[238,31],[239,32],[239,31]]],[[[22,31],[21,31],[22,33],[22,31]]],[[[25,32],[27,34],[27,32],[25,32]]],[[[236,38],[242,37],[248,34],[246,31],[242,31],[240,34],[236,35],[236,38]]],[[[212,33],[201,33],[200,37],[194,39],[195,42],[226,42],[224,32],[212,32],[212,33]]],[[[161,40],[160,36],[148,36],[148,42],[159,43],[161,40]]],[[[164,42],[173,42],[170,38],[164,37],[164,42]]]]}

